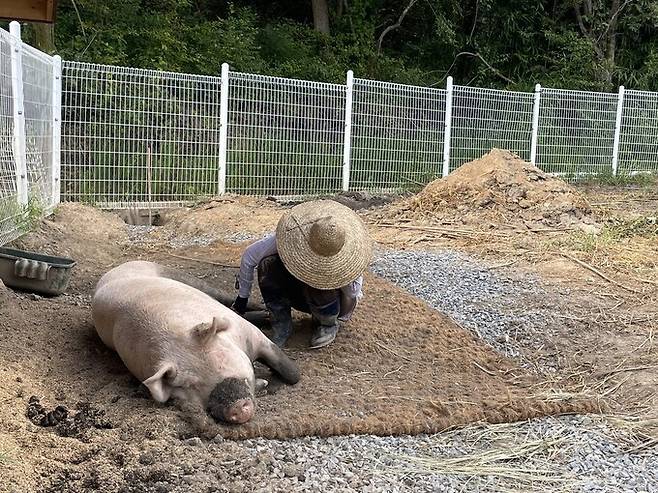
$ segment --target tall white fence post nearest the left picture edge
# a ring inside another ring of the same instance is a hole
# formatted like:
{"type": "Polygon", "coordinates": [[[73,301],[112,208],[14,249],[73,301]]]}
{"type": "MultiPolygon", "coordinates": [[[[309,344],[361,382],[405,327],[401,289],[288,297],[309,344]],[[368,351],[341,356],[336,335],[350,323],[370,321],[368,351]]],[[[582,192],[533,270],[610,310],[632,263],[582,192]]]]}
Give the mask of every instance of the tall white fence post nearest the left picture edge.
{"type": "Polygon", "coordinates": [[[27,205],[27,164],[25,152],[25,107],[23,104],[23,42],[21,25],[9,24],[11,47],[11,91],[14,99],[14,162],[16,163],[16,192],[18,203],[27,205]]]}

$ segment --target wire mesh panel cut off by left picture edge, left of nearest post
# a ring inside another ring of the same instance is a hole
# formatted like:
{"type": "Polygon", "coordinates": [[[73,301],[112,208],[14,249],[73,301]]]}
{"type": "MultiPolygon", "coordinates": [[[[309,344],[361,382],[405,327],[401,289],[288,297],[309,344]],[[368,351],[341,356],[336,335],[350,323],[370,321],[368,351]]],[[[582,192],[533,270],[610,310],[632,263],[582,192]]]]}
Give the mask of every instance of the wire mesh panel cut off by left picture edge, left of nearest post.
{"type": "Polygon", "coordinates": [[[10,34],[0,29],[0,245],[19,234],[22,208],[18,203],[14,160],[14,120],[10,34]]]}

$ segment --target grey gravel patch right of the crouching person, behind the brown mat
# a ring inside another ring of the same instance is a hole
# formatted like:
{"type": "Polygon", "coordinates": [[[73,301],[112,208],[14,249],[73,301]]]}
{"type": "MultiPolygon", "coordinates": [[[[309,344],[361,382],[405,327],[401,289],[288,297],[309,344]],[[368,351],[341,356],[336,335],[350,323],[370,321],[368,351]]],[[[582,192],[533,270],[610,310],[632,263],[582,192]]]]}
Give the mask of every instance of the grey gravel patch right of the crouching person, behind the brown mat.
{"type": "MultiPolygon", "coordinates": [[[[568,292],[549,292],[531,275],[506,277],[462,253],[384,251],[371,270],[522,362],[524,350],[536,350],[538,340],[554,336],[567,323],[559,314],[568,292]]],[[[547,361],[543,369],[556,365],[547,361]]]]}

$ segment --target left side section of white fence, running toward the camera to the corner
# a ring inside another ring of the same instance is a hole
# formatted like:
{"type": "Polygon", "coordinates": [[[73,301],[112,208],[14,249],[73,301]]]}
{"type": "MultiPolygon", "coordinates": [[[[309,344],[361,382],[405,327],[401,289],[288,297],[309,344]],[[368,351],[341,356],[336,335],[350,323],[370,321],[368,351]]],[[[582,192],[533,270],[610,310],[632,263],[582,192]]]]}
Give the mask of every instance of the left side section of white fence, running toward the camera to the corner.
{"type": "Polygon", "coordinates": [[[60,69],[0,29],[0,245],[59,202],[60,69]]]}

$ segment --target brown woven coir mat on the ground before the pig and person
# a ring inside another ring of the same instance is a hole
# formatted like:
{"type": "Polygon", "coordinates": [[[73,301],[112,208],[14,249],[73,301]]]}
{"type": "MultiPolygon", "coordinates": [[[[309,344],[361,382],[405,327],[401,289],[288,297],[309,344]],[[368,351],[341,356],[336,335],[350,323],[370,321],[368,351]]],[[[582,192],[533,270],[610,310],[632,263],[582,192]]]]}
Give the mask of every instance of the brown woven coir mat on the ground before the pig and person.
{"type": "Polygon", "coordinates": [[[240,427],[210,435],[263,436],[435,433],[475,421],[511,422],[598,411],[591,400],[545,400],[525,370],[470,332],[388,281],[369,275],[354,318],[324,350],[304,349],[299,330],[289,354],[302,380],[258,400],[240,427]]]}

